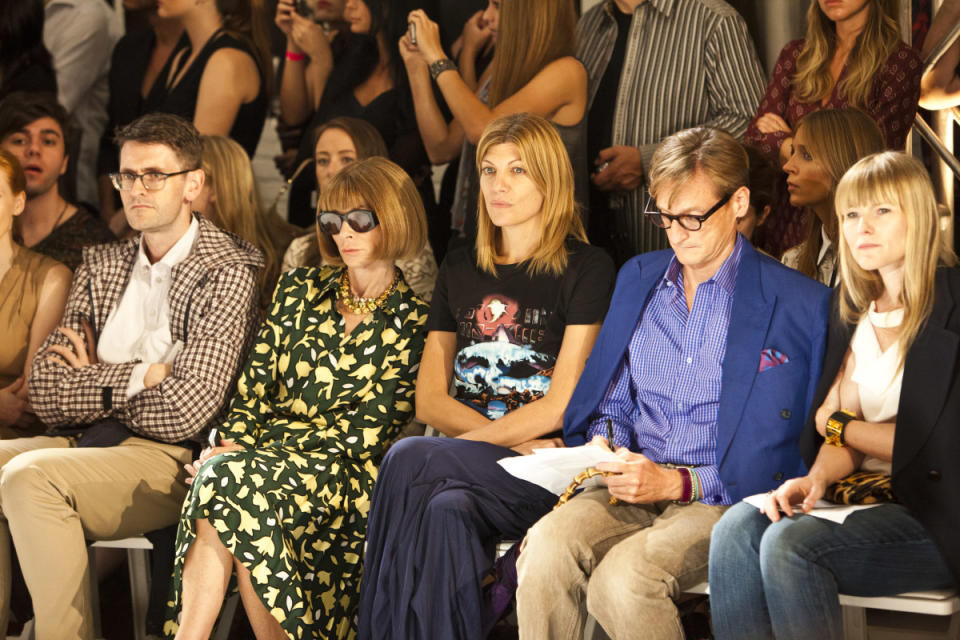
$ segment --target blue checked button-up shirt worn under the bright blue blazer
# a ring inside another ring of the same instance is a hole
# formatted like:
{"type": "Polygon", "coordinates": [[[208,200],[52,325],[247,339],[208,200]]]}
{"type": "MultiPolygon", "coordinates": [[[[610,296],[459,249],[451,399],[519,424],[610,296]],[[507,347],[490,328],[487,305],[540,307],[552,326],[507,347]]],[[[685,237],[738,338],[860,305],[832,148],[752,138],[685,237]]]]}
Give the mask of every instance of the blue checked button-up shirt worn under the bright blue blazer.
{"type": "Polygon", "coordinates": [[[590,417],[588,440],[613,424],[616,446],[657,463],[697,467],[703,502],[730,504],[717,470],[717,410],[733,293],[743,249],[701,283],[687,310],[676,257],[653,288],[627,354],[590,417]]]}

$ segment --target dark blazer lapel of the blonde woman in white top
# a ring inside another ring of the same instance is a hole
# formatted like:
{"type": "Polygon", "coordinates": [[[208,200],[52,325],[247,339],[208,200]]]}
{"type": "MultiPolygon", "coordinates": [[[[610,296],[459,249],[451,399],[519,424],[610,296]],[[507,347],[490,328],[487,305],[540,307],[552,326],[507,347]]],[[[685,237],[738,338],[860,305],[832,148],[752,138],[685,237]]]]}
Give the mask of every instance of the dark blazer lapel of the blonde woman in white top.
{"type": "Polygon", "coordinates": [[[897,420],[892,472],[897,474],[917,454],[936,425],[953,384],[960,337],[947,331],[954,300],[946,278],[938,274],[937,297],[927,324],[910,346],[903,370],[898,416],[911,416],[909,424],[897,420]]]}

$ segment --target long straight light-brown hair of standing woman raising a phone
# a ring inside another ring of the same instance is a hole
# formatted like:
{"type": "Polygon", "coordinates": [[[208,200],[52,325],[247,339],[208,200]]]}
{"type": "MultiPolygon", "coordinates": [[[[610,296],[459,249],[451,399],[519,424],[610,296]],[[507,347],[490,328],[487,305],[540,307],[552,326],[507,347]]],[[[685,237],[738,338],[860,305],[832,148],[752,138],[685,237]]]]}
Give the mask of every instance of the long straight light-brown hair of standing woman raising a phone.
{"type": "Polygon", "coordinates": [[[489,104],[495,107],[553,62],[576,54],[573,0],[503,0],[489,104]]]}

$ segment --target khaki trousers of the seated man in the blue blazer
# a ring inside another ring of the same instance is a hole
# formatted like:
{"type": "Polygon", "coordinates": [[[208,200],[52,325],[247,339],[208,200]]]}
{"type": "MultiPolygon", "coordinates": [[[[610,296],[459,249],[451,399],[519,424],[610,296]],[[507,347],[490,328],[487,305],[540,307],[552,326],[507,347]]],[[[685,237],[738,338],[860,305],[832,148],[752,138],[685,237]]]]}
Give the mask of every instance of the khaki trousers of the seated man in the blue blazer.
{"type": "Polygon", "coordinates": [[[727,507],[609,504],[588,489],[527,532],[517,562],[520,638],[583,637],[586,612],[613,640],[683,640],[675,601],[707,577],[727,507]]]}

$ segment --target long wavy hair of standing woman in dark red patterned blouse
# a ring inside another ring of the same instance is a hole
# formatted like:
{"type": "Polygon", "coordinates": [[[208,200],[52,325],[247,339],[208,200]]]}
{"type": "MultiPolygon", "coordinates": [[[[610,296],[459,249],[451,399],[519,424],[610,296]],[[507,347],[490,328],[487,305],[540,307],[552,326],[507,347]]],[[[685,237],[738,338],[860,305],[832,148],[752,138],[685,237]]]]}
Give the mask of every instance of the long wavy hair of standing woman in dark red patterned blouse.
{"type": "MultiPolygon", "coordinates": [[[[840,93],[856,107],[868,107],[877,70],[900,43],[897,0],[868,0],[867,24],[847,58],[847,73],[840,93]]],[[[830,95],[834,79],[830,62],[837,48],[837,26],[820,10],[817,0],[807,10],[807,34],[797,58],[793,92],[800,102],[819,102],[830,95]]]]}

